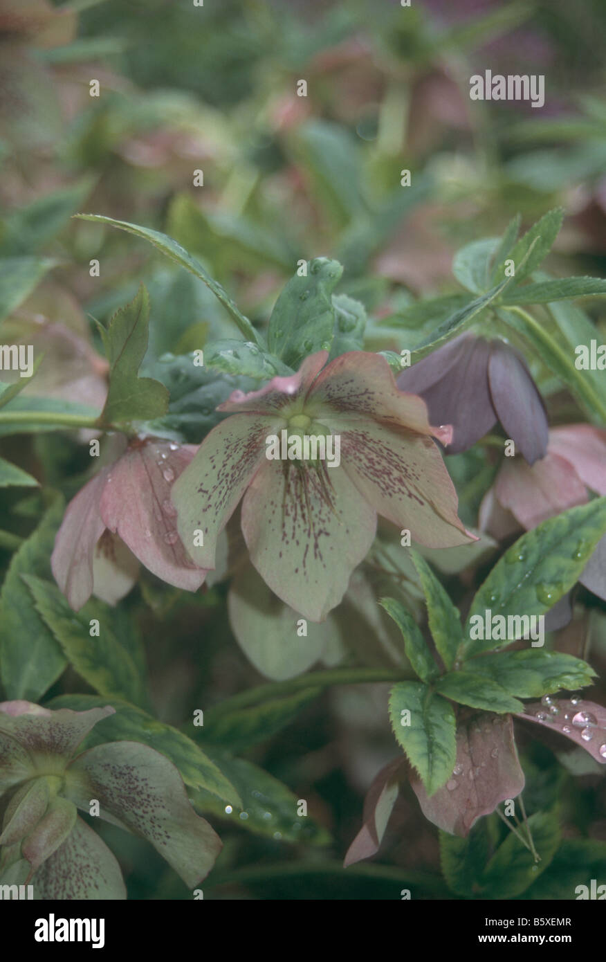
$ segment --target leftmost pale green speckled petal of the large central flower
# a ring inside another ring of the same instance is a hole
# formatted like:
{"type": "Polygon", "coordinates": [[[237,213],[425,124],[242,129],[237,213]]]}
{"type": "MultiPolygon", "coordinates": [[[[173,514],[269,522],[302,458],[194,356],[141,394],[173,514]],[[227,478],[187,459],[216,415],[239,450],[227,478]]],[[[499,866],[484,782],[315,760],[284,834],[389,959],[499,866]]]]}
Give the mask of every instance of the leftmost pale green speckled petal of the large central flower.
{"type": "Polygon", "coordinates": [[[204,439],[172,490],[177,528],[198,565],[215,569],[216,541],[255,472],[266,464],[265,440],[284,427],[282,418],[252,414],[225,418],[204,439]],[[202,532],[204,544],[194,545],[202,532]]]}

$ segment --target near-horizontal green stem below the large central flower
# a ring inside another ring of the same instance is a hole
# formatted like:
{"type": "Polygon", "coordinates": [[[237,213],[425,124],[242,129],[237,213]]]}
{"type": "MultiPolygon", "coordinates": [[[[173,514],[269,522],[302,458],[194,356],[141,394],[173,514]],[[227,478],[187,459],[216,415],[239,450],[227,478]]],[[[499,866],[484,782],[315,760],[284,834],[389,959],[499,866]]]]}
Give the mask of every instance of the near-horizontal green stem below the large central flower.
{"type": "Polygon", "coordinates": [[[298,675],[288,681],[271,682],[268,685],[259,685],[251,688],[247,692],[241,692],[221,701],[209,709],[215,718],[217,715],[228,714],[240,708],[248,708],[250,705],[261,703],[268,698],[285,697],[293,695],[295,692],[303,691],[306,688],[322,689],[330,685],[359,685],[371,684],[380,681],[408,681],[414,675],[410,671],[400,669],[385,668],[334,668],[328,671],[312,671],[310,674],[298,675]]]}

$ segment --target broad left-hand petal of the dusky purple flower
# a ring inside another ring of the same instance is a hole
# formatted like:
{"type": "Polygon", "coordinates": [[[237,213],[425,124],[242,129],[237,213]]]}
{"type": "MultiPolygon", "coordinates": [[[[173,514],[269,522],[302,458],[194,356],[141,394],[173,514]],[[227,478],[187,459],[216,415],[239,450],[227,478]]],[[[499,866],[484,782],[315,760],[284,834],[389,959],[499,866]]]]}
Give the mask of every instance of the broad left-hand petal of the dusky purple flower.
{"type": "Polygon", "coordinates": [[[496,423],[488,382],[490,344],[481,338],[457,338],[400,374],[398,387],[422,395],[432,423],[452,425],[449,454],[459,454],[496,423]],[[443,356],[442,377],[438,376],[443,356]],[[427,362],[432,362],[427,365],[427,362]],[[417,367],[427,365],[428,369],[417,367]],[[423,383],[427,381],[427,387],[423,383]]]}

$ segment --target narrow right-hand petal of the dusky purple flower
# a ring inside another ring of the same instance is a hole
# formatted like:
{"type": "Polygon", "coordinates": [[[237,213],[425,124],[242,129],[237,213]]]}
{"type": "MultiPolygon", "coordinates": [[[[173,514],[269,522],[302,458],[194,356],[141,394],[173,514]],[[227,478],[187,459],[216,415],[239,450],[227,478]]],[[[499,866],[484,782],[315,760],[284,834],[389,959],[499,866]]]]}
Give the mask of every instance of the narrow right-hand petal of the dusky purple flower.
{"type": "Polygon", "coordinates": [[[489,382],[494,410],[529,465],[544,458],[549,428],[543,398],[526,362],[509,344],[493,341],[489,382]]]}

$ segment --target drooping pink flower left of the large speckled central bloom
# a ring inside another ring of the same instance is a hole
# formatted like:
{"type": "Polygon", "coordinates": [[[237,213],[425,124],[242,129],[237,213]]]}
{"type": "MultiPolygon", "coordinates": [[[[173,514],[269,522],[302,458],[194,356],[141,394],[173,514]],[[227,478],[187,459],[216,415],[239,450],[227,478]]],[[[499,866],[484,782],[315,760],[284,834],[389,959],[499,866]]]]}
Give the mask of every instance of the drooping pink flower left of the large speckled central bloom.
{"type": "Polygon", "coordinates": [[[206,571],[195,567],[181,544],[170,501],[172,482],[196,450],[135,441],[69,502],[51,568],[74,611],[92,593],[110,604],[126,595],[137,578],[136,558],[170,585],[191,592],[200,587],[206,571]]]}

